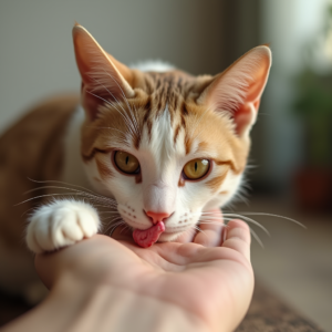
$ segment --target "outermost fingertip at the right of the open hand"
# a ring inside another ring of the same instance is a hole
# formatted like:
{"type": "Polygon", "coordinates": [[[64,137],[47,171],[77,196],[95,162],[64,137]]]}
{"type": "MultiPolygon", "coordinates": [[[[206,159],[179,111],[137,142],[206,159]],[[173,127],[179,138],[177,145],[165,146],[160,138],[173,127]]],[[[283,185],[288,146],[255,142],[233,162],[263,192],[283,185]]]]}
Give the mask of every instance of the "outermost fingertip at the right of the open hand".
{"type": "Polygon", "coordinates": [[[250,262],[250,230],[245,221],[235,219],[227,224],[221,247],[242,253],[250,262]]]}

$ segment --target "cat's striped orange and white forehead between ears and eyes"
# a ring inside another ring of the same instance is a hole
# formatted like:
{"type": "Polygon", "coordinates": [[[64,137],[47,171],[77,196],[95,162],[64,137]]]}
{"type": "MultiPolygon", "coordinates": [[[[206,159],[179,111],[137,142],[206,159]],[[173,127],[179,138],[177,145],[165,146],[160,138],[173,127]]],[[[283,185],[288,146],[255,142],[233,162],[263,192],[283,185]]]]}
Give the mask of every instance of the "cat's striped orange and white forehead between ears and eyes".
{"type": "Polygon", "coordinates": [[[105,103],[95,121],[98,129],[84,127],[83,155],[93,155],[93,149],[129,148],[133,153],[149,149],[160,162],[193,154],[232,159],[237,139],[231,122],[197,103],[210,79],[180,71],[139,72],[135,97],[105,103]]]}

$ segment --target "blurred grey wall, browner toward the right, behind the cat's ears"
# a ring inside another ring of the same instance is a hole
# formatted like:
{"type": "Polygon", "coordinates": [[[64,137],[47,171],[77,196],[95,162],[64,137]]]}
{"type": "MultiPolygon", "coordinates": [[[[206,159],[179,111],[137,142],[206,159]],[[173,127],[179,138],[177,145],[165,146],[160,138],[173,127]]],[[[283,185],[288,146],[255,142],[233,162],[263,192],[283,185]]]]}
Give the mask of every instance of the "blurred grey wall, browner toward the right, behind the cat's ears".
{"type": "Polygon", "coordinates": [[[1,1],[0,132],[40,98],[79,90],[75,21],[124,63],[163,59],[195,74],[221,71],[224,2],[1,1]]]}

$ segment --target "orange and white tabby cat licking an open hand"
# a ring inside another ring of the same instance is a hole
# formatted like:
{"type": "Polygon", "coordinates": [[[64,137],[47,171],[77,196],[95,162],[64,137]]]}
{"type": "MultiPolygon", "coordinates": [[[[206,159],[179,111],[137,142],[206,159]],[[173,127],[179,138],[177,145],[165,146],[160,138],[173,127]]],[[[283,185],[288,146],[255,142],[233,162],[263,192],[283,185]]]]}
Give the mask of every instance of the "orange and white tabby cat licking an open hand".
{"type": "Polygon", "coordinates": [[[128,68],[80,24],[73,42],[81,103],[71,95],[48,101],[0,139],[0,248],[10,252],[0,253],[0,266],[11,260],[0,284],[33,279],[23,263],[32,257],[22,245],[21,214],[35,201],[27,228],[33,252],[103,231],[98,206],[114,209],[112,225],[127,225],[136,243],[148,247],[195,229],[241,185],[271,66],[269,46],[252,49],[215,76],[193,76],[165,63],[128,68]],[[83,199],[44,203],[63,183],[83,199]],[[25,204],[13,208],[27,190],[25,204]],[[9,277],[15,272],[18,280],[9,277]]]}

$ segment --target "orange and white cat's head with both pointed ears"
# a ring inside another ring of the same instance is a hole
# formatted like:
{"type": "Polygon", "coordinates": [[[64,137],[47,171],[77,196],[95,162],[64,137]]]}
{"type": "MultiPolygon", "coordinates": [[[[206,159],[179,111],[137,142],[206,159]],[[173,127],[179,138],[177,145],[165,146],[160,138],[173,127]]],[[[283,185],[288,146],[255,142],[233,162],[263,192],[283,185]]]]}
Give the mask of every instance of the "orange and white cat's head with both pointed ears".
{"type": "Polygon", "coordinates": [[[237,193],[268,80],[271,52],[252,49],[216,76],[141,72],[73,29],[82,76],[82,158],[134,229],[163,220],[160,240],[193,229],[237,193]]]}

